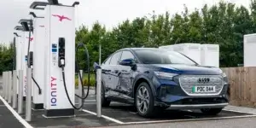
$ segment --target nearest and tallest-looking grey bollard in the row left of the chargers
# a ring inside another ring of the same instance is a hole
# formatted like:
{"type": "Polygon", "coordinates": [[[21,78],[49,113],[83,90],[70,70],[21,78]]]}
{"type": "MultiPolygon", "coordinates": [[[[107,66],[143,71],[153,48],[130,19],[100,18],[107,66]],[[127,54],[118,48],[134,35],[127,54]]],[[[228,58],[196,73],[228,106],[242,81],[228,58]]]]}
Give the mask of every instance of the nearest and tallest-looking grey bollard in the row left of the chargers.
{"type": "Polygon", "coordinates": [[[32,111],[32,68],[26,68],[26,121],[31,121],[32,111]]]}

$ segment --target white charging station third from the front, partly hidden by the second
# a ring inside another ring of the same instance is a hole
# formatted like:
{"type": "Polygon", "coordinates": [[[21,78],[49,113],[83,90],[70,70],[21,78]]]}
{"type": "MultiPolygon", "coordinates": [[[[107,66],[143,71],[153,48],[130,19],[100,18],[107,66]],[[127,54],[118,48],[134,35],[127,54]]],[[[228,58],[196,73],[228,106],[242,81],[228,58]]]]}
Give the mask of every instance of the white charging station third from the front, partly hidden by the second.
{"type": "Polygon", "coordinates": [[[31,26],[29,26],[31,23],[31,20],[25,20],[25,19],[21,19],[19,21],[19,23],[21,24],[21,26],[23,27],[23,33],[24,33],[24,36],[23,36],[23,39],[24,39],[24,44],[22,45],[21,47],[21,69],[23,70],[23,99],[26,99],[26,67],[28,67],[28,54],[30,51],[32,51],[32,49],[30,49],[29,51],[28,50],[28,44],[29,42],[31,42],[32,44],[32,41],[33,41],[33,38],[32,36],[30,36],[30,31],[31,30],[31,26]]]}

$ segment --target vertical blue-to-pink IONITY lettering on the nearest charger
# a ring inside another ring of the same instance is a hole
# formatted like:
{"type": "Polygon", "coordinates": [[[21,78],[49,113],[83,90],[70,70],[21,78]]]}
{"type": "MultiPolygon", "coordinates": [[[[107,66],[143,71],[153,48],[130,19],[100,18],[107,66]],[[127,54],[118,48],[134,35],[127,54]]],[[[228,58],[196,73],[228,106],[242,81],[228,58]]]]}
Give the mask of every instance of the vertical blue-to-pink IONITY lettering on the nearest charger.
{"type": "Polygon", "coordinates": [[[51,77],[50,80],[50,106],[57,106],[57,88],[56,79],[51,77]]]}

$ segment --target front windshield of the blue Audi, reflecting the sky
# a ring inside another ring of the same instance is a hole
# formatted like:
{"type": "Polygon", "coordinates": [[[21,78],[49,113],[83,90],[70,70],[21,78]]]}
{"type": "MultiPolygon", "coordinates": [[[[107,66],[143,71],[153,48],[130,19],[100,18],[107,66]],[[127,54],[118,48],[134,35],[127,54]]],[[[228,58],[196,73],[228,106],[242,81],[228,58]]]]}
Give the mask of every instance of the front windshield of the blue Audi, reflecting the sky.
{"type": "Polygon", "coordinates": [[[191,61],[188,57],[175,51],[166,51],[163,49],[137,49],[135,51],[138,59],[144,64],[197,65],[195,61],[191,61]]]}

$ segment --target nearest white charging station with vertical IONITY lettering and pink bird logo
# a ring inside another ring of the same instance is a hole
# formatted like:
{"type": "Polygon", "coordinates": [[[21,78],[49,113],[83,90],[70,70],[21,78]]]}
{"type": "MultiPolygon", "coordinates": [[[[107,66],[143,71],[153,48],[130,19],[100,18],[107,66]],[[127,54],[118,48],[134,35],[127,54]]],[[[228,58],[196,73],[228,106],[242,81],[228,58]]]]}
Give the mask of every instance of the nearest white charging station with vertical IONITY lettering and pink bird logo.
{"type": "Polygon", "coordinates": [[[44,117],[73,116],[75,104],[75,5],[57,0],[34,2],[31,9],[45,6],[44,26],[44,117]],[[66,50],[67,49],[67,50],[66,50]],[[66,75],[66,76],[65,76],[66,75]]]}

